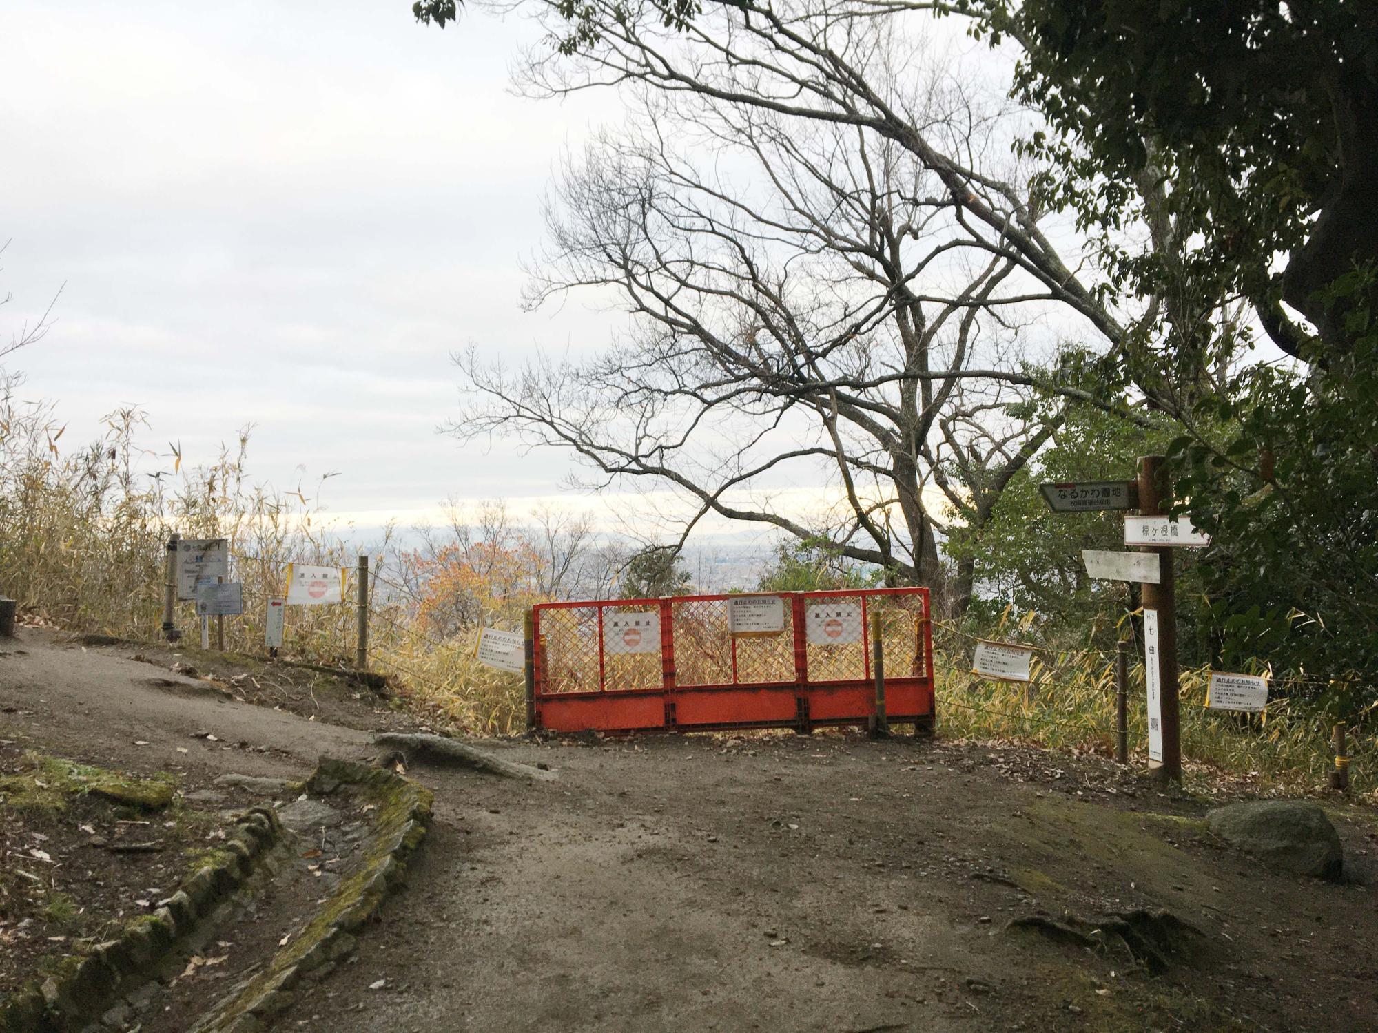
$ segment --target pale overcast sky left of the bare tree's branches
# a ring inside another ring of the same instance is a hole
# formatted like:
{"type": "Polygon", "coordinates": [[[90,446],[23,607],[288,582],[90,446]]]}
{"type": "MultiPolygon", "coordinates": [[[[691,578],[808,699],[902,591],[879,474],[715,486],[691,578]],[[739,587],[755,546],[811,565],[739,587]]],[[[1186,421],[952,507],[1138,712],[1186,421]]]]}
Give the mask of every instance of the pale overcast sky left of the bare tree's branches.
{"type": "MultiPolygon", "coordinates": [[[[462,449],[449,353],[597,347],[580,304],[524,314],[520,263],[566,146],[616,99],[533,102],[522,19],[416,25],[404,0],[7,4],[0,30],[0,335],[70,438],[139,405],[147,442],[214,456],[361,523],[456,494],[558,494],[561,453],[462,449]]],[[[577,504],[577,499],[570,501],[577,504]]]]}

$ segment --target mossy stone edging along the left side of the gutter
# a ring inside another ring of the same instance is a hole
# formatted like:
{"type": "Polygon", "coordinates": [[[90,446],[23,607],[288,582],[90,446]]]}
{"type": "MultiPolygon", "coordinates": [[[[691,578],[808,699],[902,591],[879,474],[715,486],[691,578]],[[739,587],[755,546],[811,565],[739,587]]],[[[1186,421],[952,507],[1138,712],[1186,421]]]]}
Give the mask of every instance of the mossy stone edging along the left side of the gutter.
{"type": "Polygon", "coordinates": [[[109,1007],[121,985],[145,975],[197,921],[234,894],[281,833],[271,808],[247,811],[216,850],[218,857],[193,872],[156,912],[131,921],[117,939],[72,959],[61,975],[36,981],[0,1004],[0,1033],[61,1033],[80,1027],[109,1007]]]}

